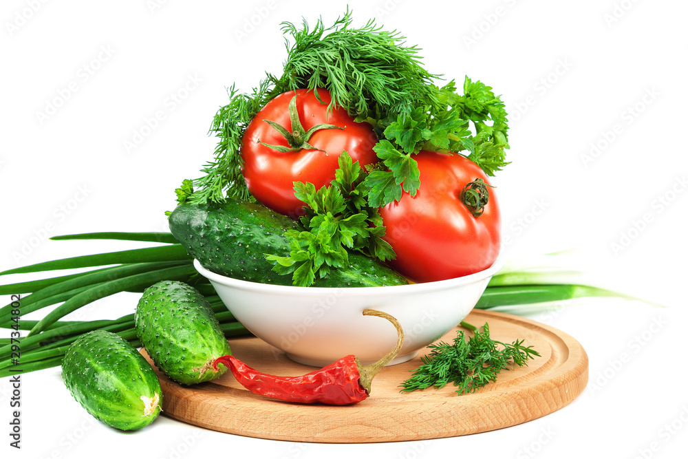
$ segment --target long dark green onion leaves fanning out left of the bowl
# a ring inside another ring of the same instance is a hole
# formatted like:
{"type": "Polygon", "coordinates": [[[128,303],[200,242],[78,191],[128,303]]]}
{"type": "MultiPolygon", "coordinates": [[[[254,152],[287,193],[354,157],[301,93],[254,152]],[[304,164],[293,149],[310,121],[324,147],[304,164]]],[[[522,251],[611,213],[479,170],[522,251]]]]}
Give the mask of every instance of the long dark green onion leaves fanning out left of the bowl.
{"type": "Polygon", "coordinates": [[[10,376],[11,370],[32,372],[60,365],[64,353],[78,337],[92,330],[107,330],[119,334],[136,346],[133,314],[114,320],[60,321],[62,317],[93,301],[118,292],[142,292],[161,280],[180,280],[193,284],[202,292],[216,313],[227,337],[246,336],[248,330],[235,319],[217,296],[215,288],[200,277],[191,264],[186,250],[170,233],[85,233],[53,237],[55,240],[122,239],[130,241],[164,242],[168,246],[122,250],[111,253],[70,257],[23,268],[7,270],[0,275],[36,273],[43,270],[89,268],[83,273],[56,276],[49,279],[6,284],[0,286],[1,295],[29,294],[21,298],[21,314],[25,316],[47,306],[62,303],[41,320],[12,321],[12,303],[0,308],[0,328],[30,330],[19,338],[21,365],[12,363],[12,344],[16,339],[0,339],[0,377],[10,376]],[[114,266],[109,266],[114,265],[114,266]],[[104,267],[105,266],[105,267],[104,267]]]}

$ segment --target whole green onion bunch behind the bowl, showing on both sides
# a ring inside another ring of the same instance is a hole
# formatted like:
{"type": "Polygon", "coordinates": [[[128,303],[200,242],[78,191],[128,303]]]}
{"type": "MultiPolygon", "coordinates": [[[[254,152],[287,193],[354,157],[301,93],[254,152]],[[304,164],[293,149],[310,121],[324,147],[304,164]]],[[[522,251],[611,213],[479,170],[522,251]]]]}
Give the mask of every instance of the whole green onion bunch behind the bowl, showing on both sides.
{"type": "MultiPolygon", "coordinates": [[[[0,328],[12,331],[12,339],[0,338],[0,378],[14,374],[10,370],[33,372],[61,365],[69,345],[92,330],[114,332],[139,347],[141,343],[136,335],[133,312],[118,319],[62,319],[98,299],[119,292],[140,293],[162,280],[184,281],[197,288],[211,303],[226,337],[250,335],[244,325],[227,310],[213,286],[196,272],[193,259],[171,233],[84,233],[52,239],[119,239],[162,245],[56,259],[1,272],[0,277],[92,268],[76,274],[0,285],[0,295],[24,295],[21,297],[22,316],[52,306],[40,320],[21,321],[13,320],[12,310],[15,308],[12,303],[0,308],[0,328]],[[28,333],[21,333],[24,336],[19,337],[21,361],[15,365],[17,361],[12,359],[12,352],[17,349],[17,334],[14,332],[19,330],[28,333]]],[[[625,297],[611,290],[580,284],[577,282],[579,277],[579,272],[566,267],[505,266],[493,276],[475,307],[519,314],[533,312],[537,310],[537,305],[580,297],[625,297]],[[567,283],[565,279],[576,281],[567,283]]]]}

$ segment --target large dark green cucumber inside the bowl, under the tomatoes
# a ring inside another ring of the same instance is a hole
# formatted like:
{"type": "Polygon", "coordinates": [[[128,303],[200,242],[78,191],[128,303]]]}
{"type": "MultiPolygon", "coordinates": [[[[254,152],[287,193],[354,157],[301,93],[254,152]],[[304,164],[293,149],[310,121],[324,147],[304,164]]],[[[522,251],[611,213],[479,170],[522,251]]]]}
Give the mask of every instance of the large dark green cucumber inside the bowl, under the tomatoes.
{"type": "MultiPolygon", "coordinates": [[[[224,204],[182,204],[169,216],[170,231],[204,268],[220,275],[261,284],[292,285],[265,254],[286,256],[286,231],[303,227],[261,204],[227,200],[224,204]]],[[[347,269],[332,270],[313,287],[378,287],[408,284],[407,279],[371,257],[352,251],[347,269]]]]}

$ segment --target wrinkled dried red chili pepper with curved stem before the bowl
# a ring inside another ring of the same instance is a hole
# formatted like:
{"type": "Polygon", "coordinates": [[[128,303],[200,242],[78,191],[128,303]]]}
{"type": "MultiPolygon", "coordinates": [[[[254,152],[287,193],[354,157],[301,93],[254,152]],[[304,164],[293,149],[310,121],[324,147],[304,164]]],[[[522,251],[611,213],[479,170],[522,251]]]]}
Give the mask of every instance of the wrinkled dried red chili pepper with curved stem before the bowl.
{"type": "Polygon", "coordinates": [[[257,372],[234,356],[226,355],[215,359],[213,367],[217,370],[217,364],[223,363],[231,370],[237,381],[254,394],[297,403],[358,403],[368,397],[372,379],[396,357],[404,343],[404,331],[394,317],[372,309],[363,310],[363,315],[384,317],[394,324],[398,334],[394,350],[371,365],[363,366],[356,356],[347,355],[303,376],[273,376],[257,372]]]}

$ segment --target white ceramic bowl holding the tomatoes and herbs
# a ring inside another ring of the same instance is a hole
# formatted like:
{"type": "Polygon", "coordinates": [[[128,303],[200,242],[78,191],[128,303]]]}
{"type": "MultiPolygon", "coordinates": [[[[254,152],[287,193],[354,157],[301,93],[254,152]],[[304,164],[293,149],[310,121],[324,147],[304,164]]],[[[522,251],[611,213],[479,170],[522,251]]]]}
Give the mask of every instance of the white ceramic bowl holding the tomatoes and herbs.
{"type": "MultiPolygon", "coordinates": [[[[473,309],[499,259],[480,273],[445,281],[387,287],[293,287],[241,281],[212,273],[194,260],[227,308],[255,336],[293,361],[323,367],[354,354],[373,363],[396,345],[394,325],[363,310],[382,310],[404,329],[401,352],[390,365],[413,359],[473,309]]],[[[482,325],[482,324],[481,324],[482,325]]]]}

